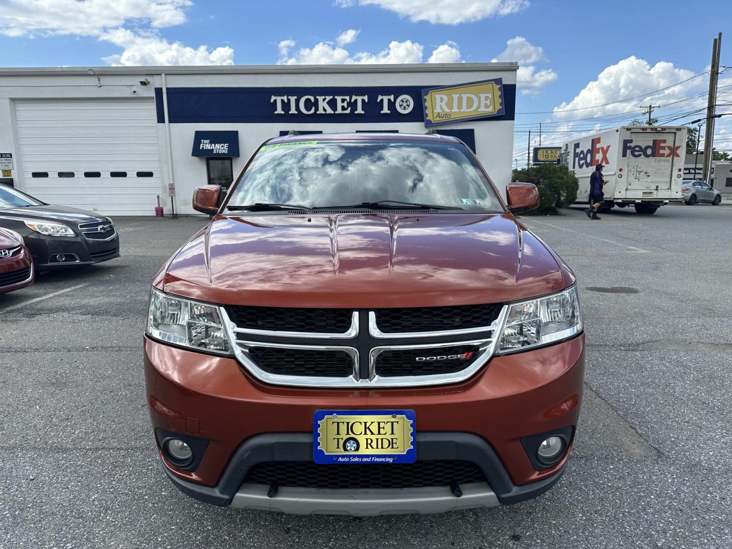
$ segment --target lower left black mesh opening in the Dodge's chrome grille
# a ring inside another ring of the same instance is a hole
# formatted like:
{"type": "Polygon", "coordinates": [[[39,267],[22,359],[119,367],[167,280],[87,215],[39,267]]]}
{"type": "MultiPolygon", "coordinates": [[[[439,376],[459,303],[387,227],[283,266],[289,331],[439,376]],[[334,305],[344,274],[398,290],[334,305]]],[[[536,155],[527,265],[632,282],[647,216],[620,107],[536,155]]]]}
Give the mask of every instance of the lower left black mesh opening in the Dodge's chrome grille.
{"type": "Polygon", "coordinates": [[[250,347],[249,356],[262,370],[280,376],[345,378],[354,373],[354,362],[346,351],[250,347]]]}

